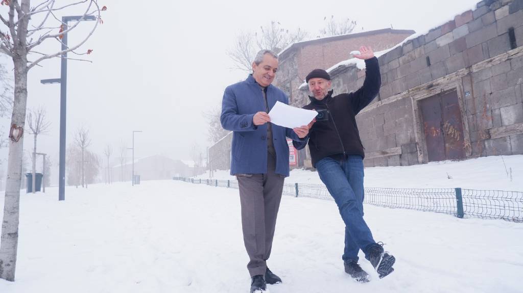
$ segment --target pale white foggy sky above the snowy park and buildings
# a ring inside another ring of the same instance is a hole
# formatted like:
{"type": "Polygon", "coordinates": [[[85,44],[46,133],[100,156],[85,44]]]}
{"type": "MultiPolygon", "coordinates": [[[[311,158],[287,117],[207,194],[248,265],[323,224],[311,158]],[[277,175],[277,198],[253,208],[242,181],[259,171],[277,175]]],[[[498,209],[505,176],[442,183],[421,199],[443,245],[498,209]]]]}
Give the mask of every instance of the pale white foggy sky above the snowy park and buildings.
{"type": "MultiPolygon", "coordinates": [[[[39,1],[34,1],[34,3],[39,1]]],[[[233,70],[226,51],[240,31],[254,31],[271,20],[289,29],[300,27],[316,35],[323,18],[350,18],[358,22],[354,32],[390,28],[426,32],[479,0],[441,1],[136,1],[107,0],[100,25],[87,44],[93,63],[69,61],[67,81],[67,144],[78,127],[89,130],[90,150],[103,155],[110,144],[113,158],[120,145],[131,147],[135,136],[135,157],[163,154],[190,160],[192,145],[205,155],[206,119],[202,112],[220,105],[223,90],[243,80],[247,72],[233,70]]],[[[33,4],[35,5],[35,4],[33,4]]],[[[0,13],[6,14],[6,7],[0,13]]],[[[69,15],[81,10],[67,11],[69,15]]],[[[69,44],[83,38],[92,23],[69,34],[69,44]]],[[[49,42],[48,52],[59,50],[49,42]]],[[[357,48],[347,48],[347,52],[357,48]]],[[[347,54],[348,55],[348,54],[347,54]]],[[[70,57],[73,57],[70,55],[70,57]]],[[[10,65],[11,60],[0,58],[10,65]]],[[[60,59],[31,69],[28,77],[28,107],[44,106],[51,128],[39,137],[38,151],[48,153],[58,164],[60,86],[40,84],[41,79],[60,77],[60,59]]],[[[10,113],[2,119],[7,132],[10,113]]],[[[7,137],[7,135],[5,135],[7,137]]],[[[32,136],[25,136],[24,148],[32,148],[32,136]]],[[[128,157],[131,152],[128,152],[128,157]]],[[[7,157],[7,148],[0,158],[7,157]]],[[[52,172],[58,173],[54,166],[52,172]]],[[[53,176],[54,177],[54,176],[53,176]]]]}

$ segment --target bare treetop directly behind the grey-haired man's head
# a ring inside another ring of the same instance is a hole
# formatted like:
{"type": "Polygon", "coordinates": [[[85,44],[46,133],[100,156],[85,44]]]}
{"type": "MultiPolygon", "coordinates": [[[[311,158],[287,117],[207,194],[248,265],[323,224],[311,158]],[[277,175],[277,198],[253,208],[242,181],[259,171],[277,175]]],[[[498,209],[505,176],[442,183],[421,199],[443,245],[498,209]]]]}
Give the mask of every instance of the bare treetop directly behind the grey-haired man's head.
{"type": "Polygon", "coordinates": [[[260,26],[256,32],[241,32],[236,37],[234,47],[227,52],[234,61],[236,69],[251,71],[256,53],[262,49],[269,49],[276,53],[288,45],[308,38],[309,34],[300,28],[290,31],[281,26],[278,21],[271,21],[268,25],[260,26]]]}

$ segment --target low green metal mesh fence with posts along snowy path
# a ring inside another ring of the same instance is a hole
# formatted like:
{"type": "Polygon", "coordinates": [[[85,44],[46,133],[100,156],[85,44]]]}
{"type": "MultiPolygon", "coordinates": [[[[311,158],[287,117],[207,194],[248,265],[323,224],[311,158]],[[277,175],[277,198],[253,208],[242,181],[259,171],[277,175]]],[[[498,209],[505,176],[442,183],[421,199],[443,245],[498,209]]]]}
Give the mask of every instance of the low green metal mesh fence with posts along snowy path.
{"type": "MultiPolygon", "coordinates": [[[[193,184],[238,188],[236,180],[175,177],[193,184]]],[[[283,195],[333,200],[322,184],[284,184],[283,195]]],[[[500,190],[365,188],[364,203],[437,212],[458,217],[501,218],[523,222],[523,192],[500,190]]]]}

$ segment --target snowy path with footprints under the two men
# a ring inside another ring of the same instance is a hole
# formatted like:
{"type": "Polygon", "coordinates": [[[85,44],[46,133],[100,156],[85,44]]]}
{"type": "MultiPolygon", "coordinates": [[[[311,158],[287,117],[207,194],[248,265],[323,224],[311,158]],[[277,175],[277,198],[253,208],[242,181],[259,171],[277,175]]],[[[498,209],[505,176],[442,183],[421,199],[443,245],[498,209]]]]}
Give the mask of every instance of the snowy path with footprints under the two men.
{"type": "MultiPolygon", "coordinates": [[[[246,292],[237,192],[144,181],[68,188],[64,202],[53,188],[23,194],[16,282],[0,292],[246,292]]],[[[284,283],[270,292],[521,292],[523,224],[365,209],[392,275],[354,283],[334,202],[283,197],[269,265],[284,283]]]]}

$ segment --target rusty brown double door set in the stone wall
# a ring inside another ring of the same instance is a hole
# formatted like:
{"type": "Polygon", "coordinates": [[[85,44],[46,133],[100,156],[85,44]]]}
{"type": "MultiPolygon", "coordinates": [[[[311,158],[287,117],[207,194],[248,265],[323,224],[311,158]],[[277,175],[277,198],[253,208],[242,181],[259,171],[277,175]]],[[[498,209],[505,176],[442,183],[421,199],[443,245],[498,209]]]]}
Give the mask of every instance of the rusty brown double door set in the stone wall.
{"type": "Polygon", "coordinates": [[[463,122],[457,92],[431,96],[419,103],[428,161],[464,158],[463,122]]]}

